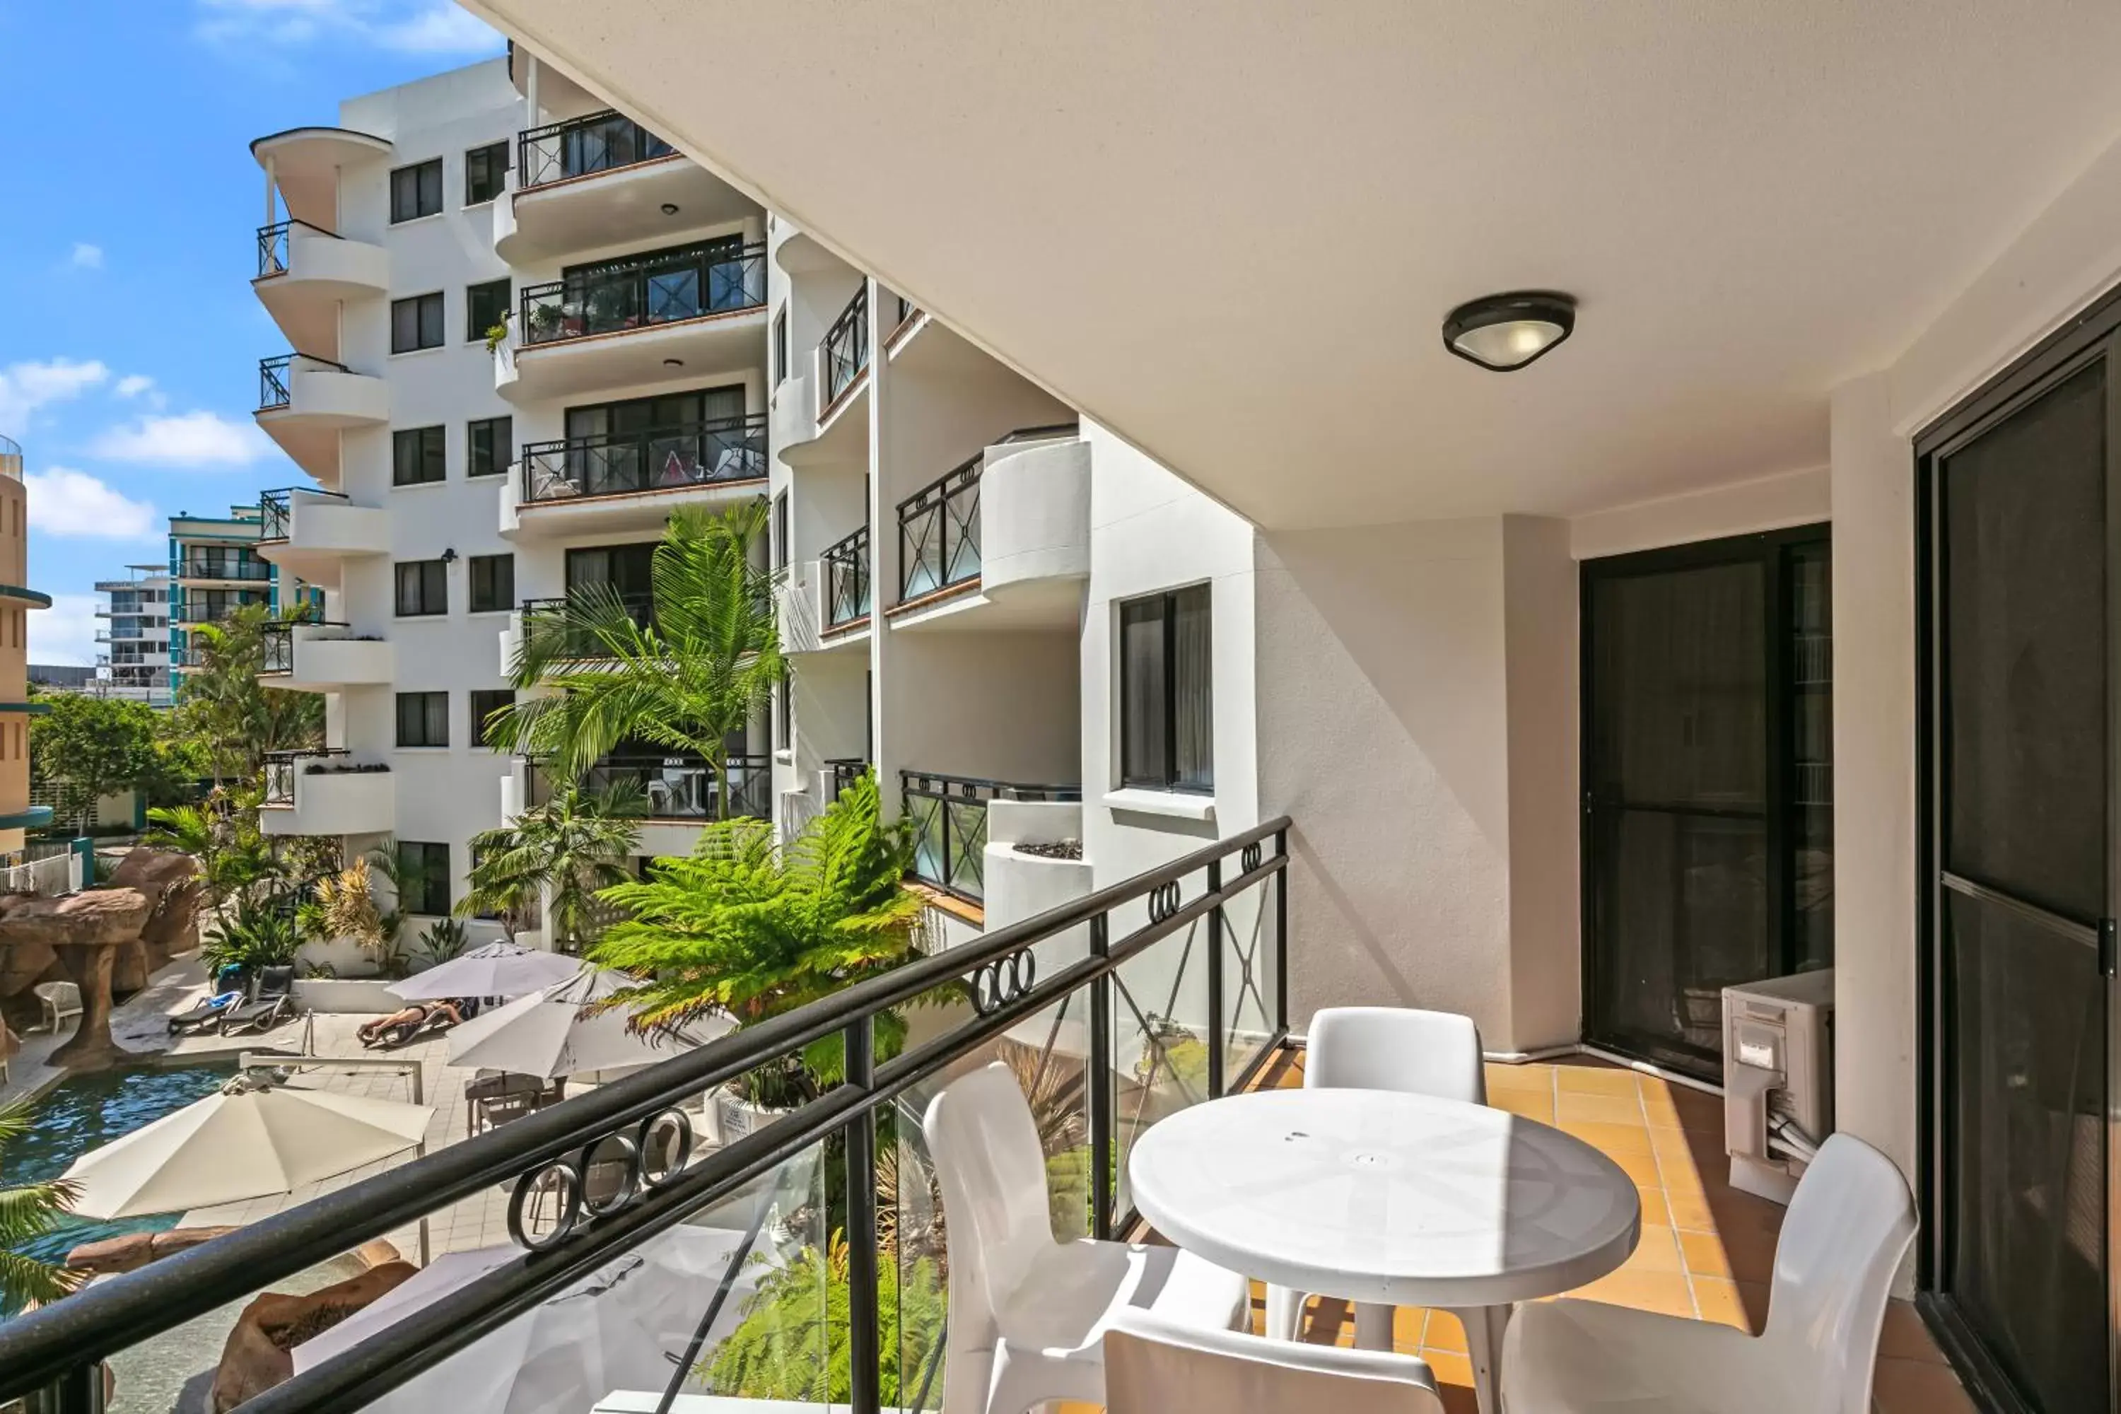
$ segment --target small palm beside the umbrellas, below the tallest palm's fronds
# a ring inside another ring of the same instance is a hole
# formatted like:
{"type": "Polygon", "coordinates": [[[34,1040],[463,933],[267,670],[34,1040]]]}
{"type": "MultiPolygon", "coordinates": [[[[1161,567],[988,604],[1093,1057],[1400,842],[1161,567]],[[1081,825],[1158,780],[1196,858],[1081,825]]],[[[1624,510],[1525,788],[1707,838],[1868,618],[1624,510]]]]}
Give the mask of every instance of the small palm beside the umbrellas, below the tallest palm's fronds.
{"type": "Polygon", "coordinates": [[[513,939],[549,888],[554,943],[579,948],[596,920],[596,892],[630,878],[626,861],[641,846],[641,812],[638,791],[562,784],[543,806],[479,831],[471,837],[471,888],[456,901],[458,916],[498,914],[513,939]]]}

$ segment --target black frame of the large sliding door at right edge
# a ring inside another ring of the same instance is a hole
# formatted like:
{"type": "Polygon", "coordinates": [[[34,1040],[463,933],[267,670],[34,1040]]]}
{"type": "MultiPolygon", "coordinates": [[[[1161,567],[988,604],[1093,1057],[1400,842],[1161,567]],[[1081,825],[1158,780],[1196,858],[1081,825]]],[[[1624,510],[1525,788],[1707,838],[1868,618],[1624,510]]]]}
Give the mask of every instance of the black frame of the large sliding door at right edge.
{"type": "MultiPolygon", "coordinates": [[[[1943,977],[1943,702],[1945,655],[1936,617],[1941,488],[1936,462],[2013,413],[2023,411],[2064,379],[2106,363],[2106,837],[2121,848],[2121,286],[2091,301],[2062,329],[2019,356],[1975,392],[1913,435],[1915,490],[1915,1306],[1968,1395],[1998,1414],[2034,1414],[2019,1399],[2002,1367],[1989,1357],[1973,1325],[1939,1289],[1947,1261],[1949,1225],[1941,1213],[1943,1174],[1951,1138],[1949,1090],[1943,1075],[1949,996],[1943,977]]],[[[2108,861],[2106,918],[2121,918],[2121,865],[2108,861]]],[[[2110,941],[2106,965],[2106,1389],[2121,1397],[2121,984],[2115,979],[2110,941]]]]}

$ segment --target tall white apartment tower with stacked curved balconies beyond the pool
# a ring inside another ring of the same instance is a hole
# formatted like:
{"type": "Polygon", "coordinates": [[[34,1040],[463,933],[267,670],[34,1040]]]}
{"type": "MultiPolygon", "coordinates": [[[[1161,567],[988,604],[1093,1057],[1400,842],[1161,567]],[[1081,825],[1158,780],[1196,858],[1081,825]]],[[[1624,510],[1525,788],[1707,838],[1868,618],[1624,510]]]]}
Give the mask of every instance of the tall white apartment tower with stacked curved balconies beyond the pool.
{"type": "MultiPolygon", "coordinates": [[[[583,89],[507,59],[261,138],[257,295],[288,339],[259,426],[312,477],[261,553],[322,591],[267,681],[327,697],[327,748],[269,774],[267,829],[392,837],[414,929],[469,839],[543,789],[481,742],[524,615],[581,583],[647,600],[670,511],[766,492],[764,212],[583,89]]],[[[768,812],[766,725],[732,757],[768,812]]],[[[698,761],[617,750],[649,854],[715,806],[698,761]]]]}

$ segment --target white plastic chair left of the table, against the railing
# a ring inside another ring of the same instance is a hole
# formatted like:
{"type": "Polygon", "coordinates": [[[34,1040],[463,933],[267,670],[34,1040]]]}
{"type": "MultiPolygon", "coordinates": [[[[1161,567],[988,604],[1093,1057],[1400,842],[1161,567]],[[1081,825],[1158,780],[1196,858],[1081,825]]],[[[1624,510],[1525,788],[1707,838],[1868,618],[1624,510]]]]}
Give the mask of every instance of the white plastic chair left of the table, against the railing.
{"type": "Polygon", "coordinates": [[[950,1225],[946,1410],[1105,1403],[1101,1340],[1128,1308],[1222,1329],[1245,1316],[1245,1278],[1175,1247],[1054,1240],[1046,1153],[1007,1066],[952,1081],[923,1128],[950,1225]]]}

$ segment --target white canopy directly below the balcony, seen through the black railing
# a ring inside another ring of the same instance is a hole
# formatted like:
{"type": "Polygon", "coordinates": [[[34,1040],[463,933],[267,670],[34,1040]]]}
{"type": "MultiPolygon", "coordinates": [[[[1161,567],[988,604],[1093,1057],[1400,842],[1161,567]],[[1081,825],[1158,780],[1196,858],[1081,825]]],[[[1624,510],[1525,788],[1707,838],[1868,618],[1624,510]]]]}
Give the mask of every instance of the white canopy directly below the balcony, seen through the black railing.
{"type": "MultiPolygon", "coordinates": [[[[744,1238],[728,1227],[672,1227],[407,1380],[367,1406],[367,1414],[545,1414],[596,1408],[613,1391],[662,1393],[744,1238]]],[[[755,1247],[770,1249],[770,1238],[755,1247]]],[[[515,1247],[443,1253],[373,1304],[295,1346],[295,1374],[520,1255],[515,1247]]],[[[764,1270],[764,1263],[736,1261],[702,1357],[711,1359],[742,1321],[744,1297],[764,1270]]]]}

